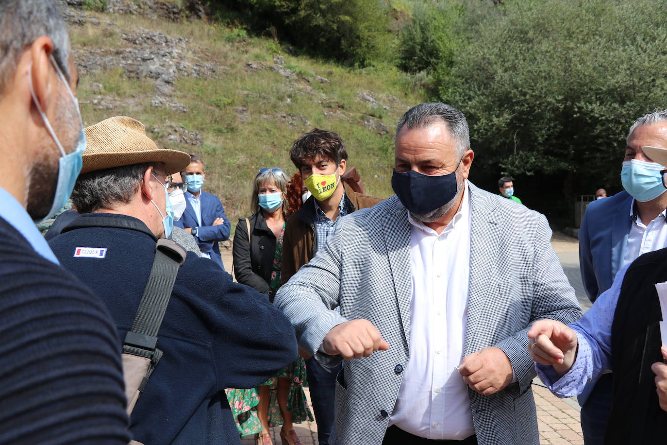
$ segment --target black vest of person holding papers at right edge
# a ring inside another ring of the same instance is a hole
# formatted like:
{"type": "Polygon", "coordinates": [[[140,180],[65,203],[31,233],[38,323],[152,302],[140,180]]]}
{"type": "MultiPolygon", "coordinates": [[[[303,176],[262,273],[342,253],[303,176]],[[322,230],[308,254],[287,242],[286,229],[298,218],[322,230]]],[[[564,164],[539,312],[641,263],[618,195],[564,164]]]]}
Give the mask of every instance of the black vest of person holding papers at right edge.
{"type": "Polygon", "coordinates": [[[667,249],[637,258],[625,274],[612,324],[614,390],[605,444],[664,444],[667,412],[660,408],[656,375],[662,362],[660,301],[655,284],[667,281],[667,249]]]}

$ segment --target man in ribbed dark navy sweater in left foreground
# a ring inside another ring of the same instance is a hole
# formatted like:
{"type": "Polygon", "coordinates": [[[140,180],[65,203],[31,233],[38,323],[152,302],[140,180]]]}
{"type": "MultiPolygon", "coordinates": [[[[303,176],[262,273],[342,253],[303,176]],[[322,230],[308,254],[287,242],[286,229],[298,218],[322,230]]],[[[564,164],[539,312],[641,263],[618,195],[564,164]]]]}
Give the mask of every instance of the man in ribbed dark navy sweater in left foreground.
{"type": "Polygon", "coordinates": [[[85,138],[60,0],[0,0],[0,443],[127,444],[107,308],[35,228],[61,209],[85,138]]]}

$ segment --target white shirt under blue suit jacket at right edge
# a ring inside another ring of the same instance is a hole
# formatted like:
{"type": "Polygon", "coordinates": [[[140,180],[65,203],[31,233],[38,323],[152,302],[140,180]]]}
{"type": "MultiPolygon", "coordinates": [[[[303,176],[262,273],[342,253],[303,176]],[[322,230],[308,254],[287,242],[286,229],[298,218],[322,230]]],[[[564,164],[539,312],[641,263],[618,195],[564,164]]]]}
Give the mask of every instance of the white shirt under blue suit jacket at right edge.
{"type": "Polygon", "coordinates": [[[626,254],[623,259],[623,266],[632,263],[639,256],[646,252],[653,252],[667,247],[667,222],[665,221],[665,211],[656,216],[648,225],[644,224],[636,212],[635,200],[632,199],[630,205],[630,233],[628,234],[628,244],[626,245],[626,254]]]}

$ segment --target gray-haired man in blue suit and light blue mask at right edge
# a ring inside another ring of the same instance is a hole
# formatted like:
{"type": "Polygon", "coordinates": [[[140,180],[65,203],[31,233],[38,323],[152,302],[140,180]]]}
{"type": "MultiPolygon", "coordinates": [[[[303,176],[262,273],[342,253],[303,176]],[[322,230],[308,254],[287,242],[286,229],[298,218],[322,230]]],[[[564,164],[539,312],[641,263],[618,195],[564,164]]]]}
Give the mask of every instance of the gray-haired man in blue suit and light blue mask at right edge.
{"type": "MultiPolygon", "coordinates": [[[[667,148],[667,111],[637,119],[628,133],[621,170],[624,191],[588,205],[579,230],[579,264],[588,298],[595,302],[616,273],[646,252],[667,247],[667,189],[645,147],[667,148]]],[[[603,374],[579,396],[586,445],[602,444],[610,412],[612,374],[603,374]]]]}

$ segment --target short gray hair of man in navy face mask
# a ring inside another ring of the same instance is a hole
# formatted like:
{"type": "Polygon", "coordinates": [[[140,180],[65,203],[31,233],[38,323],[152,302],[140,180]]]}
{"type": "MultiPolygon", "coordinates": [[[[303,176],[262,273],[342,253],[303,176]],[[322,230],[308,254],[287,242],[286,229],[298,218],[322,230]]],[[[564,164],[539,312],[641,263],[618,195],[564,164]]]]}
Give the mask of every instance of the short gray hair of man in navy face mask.
{"type": "Polygon", "coordinates": [[[462,157],[463,153],[470,148],[468,121],[466,121],[466,116],[461,111],[446,103],[425,102],[406,111],[396,124],[395,139],[398,138],[398,133],[404,125],[407,125],[409,129],[428,127],[438,119],[447,124],[452,136],[458,140],[456,154],[458,157],[462,157]]]}

